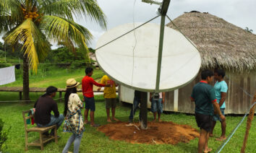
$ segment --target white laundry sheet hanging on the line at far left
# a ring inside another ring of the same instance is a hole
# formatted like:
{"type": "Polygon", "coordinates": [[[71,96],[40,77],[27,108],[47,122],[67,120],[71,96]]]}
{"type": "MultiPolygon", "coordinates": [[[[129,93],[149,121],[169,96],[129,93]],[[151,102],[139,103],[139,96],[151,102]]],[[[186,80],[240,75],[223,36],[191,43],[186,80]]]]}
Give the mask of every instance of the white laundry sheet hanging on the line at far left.
{"type": "Polygon", "coordinates": [[[15,82],[15,66],[0,69],[0,85],[15,82]]]}

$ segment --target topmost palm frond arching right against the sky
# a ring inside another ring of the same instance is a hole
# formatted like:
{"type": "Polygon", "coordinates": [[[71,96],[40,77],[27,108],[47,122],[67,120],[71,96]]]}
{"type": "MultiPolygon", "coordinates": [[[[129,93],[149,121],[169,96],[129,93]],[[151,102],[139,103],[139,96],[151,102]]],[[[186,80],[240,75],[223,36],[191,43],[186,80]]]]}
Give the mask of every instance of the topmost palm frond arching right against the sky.
{"type": "Polygon", "coordinates": [[[88,18],[106,29],[106,15],[95,0],[53,0],[51,3],[48,2],[48,4],[44,2],[44,5],[42,4],[41,6],[40,9],[45,14],[67,17],[69,20],[73,20],[73,14],[77,19],[82,17],[88,18]]]}

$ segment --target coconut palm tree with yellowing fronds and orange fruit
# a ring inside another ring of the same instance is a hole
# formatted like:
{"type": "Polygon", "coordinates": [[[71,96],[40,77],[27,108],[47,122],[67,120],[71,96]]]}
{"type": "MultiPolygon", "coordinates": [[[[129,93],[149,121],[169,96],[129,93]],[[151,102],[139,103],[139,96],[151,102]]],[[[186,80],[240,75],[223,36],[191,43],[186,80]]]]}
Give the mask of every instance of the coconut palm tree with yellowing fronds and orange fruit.
{"type": "Polygon", "coordinates": [[[22,45],[25,100],[29,100],[28,69],[37,72],[39,62],[51,51],[49,42],[79,47],[88,57],[86,44],[93,36],[74,22],[82,17],[106,28],[106,16],[96,0],[0,0],[0,35],[12,48],[22,45]]]}

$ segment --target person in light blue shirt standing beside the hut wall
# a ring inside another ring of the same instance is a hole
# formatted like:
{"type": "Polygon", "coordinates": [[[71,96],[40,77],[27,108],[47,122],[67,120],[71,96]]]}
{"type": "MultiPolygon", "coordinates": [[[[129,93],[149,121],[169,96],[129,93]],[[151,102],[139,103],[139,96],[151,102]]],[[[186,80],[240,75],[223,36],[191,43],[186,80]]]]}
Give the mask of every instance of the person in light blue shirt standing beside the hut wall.
{"type": "MultiPolygon", "coordinates": [[[[224,110],[226,108],[225,100],[226,100],[226,92],[228,91],[228,85],[224,81],[225,71],[223,69],[216,69],[214,71],[214,79],[216,80],[216,84],[214,84],[215,94],[217,98],[218,105],[221,108],[222,115],[224,114],[224,110]]],[[[222,121],[218,114],[213,115],[213,127],[210,131],[210,136],[213,136],[213,129],[216,125],[216,121],[221,121],[221,136],[217,138],[218,141],[223,141],[226,139],[226,121],[222,121]]]]}

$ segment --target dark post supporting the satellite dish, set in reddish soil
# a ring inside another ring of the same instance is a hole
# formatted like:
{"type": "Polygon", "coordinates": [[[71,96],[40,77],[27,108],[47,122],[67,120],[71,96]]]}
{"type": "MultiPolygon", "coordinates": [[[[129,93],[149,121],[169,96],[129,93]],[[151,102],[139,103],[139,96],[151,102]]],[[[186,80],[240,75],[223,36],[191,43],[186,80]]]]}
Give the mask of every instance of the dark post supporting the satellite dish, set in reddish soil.
{"type": "Polygon", "coordinates": [[[140,92],[141,94],[141,123],[140,128],[147,129],[148,128],[148,92],[140,92]]]}

